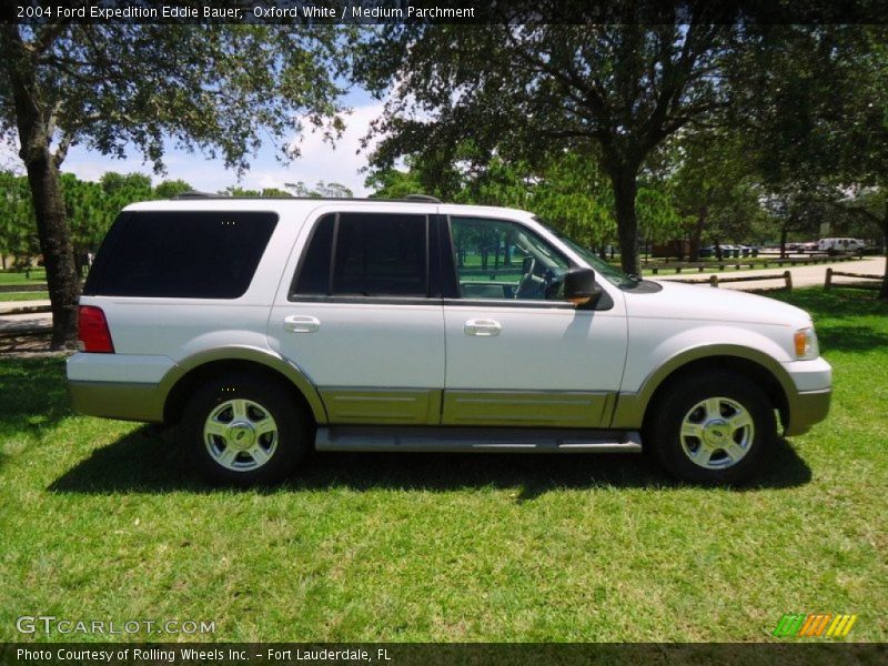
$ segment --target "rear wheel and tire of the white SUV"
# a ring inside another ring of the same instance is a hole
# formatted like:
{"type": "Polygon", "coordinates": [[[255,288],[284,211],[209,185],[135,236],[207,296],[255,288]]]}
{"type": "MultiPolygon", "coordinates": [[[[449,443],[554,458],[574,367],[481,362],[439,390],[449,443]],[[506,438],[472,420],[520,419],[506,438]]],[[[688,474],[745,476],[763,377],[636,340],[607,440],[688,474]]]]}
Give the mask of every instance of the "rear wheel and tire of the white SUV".
{"type": "Polygon", "coordinates": [[[283,481],[310,450],[313,432],[307,411],[281,383],[249,373],[201,385],[182,416],[192,463],[214,485],[283,481]]]}

